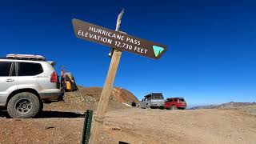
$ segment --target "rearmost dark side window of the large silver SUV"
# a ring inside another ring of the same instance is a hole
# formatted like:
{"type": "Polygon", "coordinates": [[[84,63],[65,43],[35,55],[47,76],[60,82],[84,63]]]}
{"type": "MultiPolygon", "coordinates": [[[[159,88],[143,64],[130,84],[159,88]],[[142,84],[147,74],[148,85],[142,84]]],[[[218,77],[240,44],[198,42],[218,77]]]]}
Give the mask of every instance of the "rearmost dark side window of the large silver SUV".
{"type": "Polygon", "coordinates": [[[43,72],[40,63],[33,62],[19,62],[18,63],[18,76],[34,76],[43,72]]]}

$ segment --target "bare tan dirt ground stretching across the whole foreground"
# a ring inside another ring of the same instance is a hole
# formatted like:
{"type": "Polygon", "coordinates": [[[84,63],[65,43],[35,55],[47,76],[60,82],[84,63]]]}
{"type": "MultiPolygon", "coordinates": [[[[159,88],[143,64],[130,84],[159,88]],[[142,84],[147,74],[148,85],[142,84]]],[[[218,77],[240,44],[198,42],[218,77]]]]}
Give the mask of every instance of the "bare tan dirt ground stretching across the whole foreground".
{"type": "MultiPolygon", "coordinates": [[[[45,111],[11,119],[0,112],[0,143],[80,143],[82,114],[45,111]]],[[[255,143],[256,117],[242,110],[110,110],[102,143],[255,143]]]]}

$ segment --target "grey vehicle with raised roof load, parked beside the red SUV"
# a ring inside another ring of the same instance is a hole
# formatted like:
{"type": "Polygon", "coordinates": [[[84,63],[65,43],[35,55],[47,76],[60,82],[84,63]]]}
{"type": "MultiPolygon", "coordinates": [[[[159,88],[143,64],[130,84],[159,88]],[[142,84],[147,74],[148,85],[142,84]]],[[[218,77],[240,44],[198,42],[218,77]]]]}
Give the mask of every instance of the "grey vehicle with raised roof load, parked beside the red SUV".
{"type": "Polygon", "coordinates": [[[164,99],[162,93],[147,94],[140,103],[142,109],[161,108],[164,107],[164,99]]]}

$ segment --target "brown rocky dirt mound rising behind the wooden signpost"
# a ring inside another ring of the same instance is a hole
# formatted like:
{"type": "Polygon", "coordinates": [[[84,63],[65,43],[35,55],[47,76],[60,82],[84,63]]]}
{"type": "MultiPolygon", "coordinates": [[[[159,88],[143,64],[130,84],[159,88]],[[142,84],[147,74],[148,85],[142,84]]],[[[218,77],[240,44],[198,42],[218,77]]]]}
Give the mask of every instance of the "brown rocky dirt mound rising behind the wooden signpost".
{"type": "MultiPolygon", "coordinates": [[[[99,99],[102,94],[101,87],[81,87],[75,92],[68,92],[64,96],[64,102],[46,104],[46,110],[70,110],[70,111],[85,111],[96,110],[99,99]]],[[[130,91],[114,88],[111,96],[108,109],[117,110],[127,108],[122,102],[130,104],[130,102],[138,102],[138,99],[130,91]]]]}

